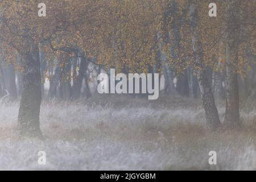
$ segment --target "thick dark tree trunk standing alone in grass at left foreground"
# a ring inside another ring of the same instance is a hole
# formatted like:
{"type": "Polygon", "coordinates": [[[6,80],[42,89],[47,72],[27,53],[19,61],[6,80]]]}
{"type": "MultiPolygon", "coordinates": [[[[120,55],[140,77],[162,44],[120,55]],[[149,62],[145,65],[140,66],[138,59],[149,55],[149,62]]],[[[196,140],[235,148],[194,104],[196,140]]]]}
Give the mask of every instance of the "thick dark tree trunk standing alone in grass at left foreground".
{"type": "Polygon", "coordinates": [[[41,136],[40,105],[42,100],[39,50],[32,46],[22,63],[23,90],[18,115],[18,130],[22,135],[41,136]]]}

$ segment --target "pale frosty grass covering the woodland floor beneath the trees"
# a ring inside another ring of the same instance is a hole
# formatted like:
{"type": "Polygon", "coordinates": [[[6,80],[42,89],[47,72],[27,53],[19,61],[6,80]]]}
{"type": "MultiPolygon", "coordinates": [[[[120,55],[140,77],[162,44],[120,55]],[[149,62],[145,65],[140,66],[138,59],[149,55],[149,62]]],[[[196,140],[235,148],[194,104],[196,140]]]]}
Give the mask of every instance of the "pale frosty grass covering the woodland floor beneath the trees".
{"type": "MultiPolygon", "coordinates": [[[[225,107],[218,103],[221,120],[225,107]]],[[[18,103],[0,105],[0,169],[252,170],[256,169],[256,109],[241,111],[241,130],[205,127],[199,100],[97,97],[43,102],[43,140],[16,135],[18,103]],[[217,152],[217,165],[208,152],[217,152]],[[46,165],[38,152],[46,152],[46,165]]]]}

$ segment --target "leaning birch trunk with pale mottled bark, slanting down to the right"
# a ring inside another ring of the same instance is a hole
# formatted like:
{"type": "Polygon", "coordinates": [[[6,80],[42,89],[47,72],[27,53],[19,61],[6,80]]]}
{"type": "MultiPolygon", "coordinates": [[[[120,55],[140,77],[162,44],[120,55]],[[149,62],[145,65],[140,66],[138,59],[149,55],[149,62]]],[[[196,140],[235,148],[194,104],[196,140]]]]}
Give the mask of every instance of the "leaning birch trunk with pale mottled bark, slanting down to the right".
{"type": "Polygon", "coordinates": [[[197,71],[197,81],[199,83],[201,100],[203,102],[205,117],[207,120],[207,126],[210,130],[216,130],[220,126],[220,118],[218,117],[217,107],[215,105],[212,89],[210,87],[209,81],[207,80],[207,75],[205,71],[205,65],[203,61],[203,46],[201,42],[200,32],[197,31],[197,9],[195,2],[189,7],[189,16],[191,20],[191,30],[192,30],[192,44],[193,52],[195,54],[197,71]]]}

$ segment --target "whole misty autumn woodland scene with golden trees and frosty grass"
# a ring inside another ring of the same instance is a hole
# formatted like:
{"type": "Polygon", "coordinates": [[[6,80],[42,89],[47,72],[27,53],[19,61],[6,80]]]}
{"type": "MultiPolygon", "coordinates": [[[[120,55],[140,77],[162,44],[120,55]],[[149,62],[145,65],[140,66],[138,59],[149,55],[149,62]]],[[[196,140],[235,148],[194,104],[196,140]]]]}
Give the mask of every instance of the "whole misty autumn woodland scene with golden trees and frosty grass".
{"type": "Polygon", "coordinates": [[[0,1],[0,169],[256,169],[255,0],[39,3],[0,1]],[[97,94],[110,68],[159,99],[97,94]]]}

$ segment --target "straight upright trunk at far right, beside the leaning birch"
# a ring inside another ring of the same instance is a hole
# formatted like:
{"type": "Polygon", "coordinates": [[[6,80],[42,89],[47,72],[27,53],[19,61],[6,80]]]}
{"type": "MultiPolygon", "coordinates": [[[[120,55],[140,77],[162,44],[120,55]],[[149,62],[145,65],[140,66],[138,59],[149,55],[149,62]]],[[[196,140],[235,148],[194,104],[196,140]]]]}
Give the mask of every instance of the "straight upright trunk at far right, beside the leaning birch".
{"type": "Polygon", "coordinates": [[[224,124],[228,128],[240,127],[238,92],[238,42],[240,37],[240,0],[226,1],[226,113],[224,124]],[[237,12],[233,14],[232,12],[237,12]]]}

